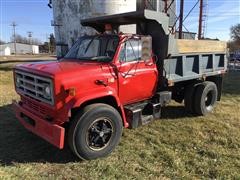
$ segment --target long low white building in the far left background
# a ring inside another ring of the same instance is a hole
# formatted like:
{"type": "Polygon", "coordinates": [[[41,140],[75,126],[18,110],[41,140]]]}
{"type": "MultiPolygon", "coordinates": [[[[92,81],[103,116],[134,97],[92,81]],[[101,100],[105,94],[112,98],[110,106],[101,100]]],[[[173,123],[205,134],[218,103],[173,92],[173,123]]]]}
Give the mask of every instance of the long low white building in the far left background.
{"type": "MultiPolygon", "coordinates": [[[[10,56],[15,54],[14,43],[0,45],[0,56],[10,56]]],[[[16,43],[16,54],[39,54],[39,46],[16,43]]]]}

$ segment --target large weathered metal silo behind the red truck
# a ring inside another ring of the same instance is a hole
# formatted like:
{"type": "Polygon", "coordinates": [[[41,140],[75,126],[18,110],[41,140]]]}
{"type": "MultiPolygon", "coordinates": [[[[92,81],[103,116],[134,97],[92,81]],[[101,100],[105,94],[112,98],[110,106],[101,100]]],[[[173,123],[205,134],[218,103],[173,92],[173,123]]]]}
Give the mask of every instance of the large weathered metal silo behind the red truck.
{"type": "MultiPolygon", "coordinates": [[[[170,25],[173,25],[176,19],[176,3],[171,2],[169,0],[167,12],[170,15],[170,25]]],[[[49,6],[53,8],[52,26],[55,30],[58,56],[64,55],[78,37],[95,33],[91,28],[82,27],[81,19],[144,8],[161,12],[166,10],[163,0],[49,0],[49,6]]],[[[136,33],[136,26],[125,26],[120,30],[136,33]]]]}

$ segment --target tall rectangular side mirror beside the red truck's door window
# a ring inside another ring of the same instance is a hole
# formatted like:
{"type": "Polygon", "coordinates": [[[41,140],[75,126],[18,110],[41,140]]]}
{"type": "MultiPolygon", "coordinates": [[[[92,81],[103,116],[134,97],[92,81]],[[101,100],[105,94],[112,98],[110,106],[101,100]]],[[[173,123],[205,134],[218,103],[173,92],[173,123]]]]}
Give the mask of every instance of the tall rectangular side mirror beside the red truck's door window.
{"type": "Polygon", "coordinates": [[[142,43],[141,59],[144,61],[148,61],[152,58],[152,37],[151,36],[141,37],[141,43],[142,43]]]}

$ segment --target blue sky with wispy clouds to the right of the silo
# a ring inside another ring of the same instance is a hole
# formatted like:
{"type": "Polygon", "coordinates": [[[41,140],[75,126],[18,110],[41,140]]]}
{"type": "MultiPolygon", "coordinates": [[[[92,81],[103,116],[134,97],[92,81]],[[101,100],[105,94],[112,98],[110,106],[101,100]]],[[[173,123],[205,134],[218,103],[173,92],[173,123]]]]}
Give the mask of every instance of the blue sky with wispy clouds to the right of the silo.
{"type": "MultiPolygon", "coordinates": [[[[185,0],[185,15],[197,0],[185,0]]],[[[230,27],[240,23],[240,0],[205,0],[208,2],[208,18],[206,37],[230,39],[230,27]]],[[[179,4],[179,0],[177,0],[179,4]]],[[[197,32],[199,6],[197,6],[184,22],[189,31],[197,32]]]]}

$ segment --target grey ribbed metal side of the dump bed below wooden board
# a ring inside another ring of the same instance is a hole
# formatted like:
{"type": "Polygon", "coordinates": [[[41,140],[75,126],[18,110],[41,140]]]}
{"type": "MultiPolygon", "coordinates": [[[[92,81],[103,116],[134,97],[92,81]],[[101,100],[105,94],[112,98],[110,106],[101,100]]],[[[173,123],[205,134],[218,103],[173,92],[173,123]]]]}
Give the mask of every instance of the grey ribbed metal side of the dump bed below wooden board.
{"type": "Polygon", "coordinates": [[[227,71],[225,53],[183,54],[164,60],[165,77],[169,82],[204,78],[227,71]]]}

